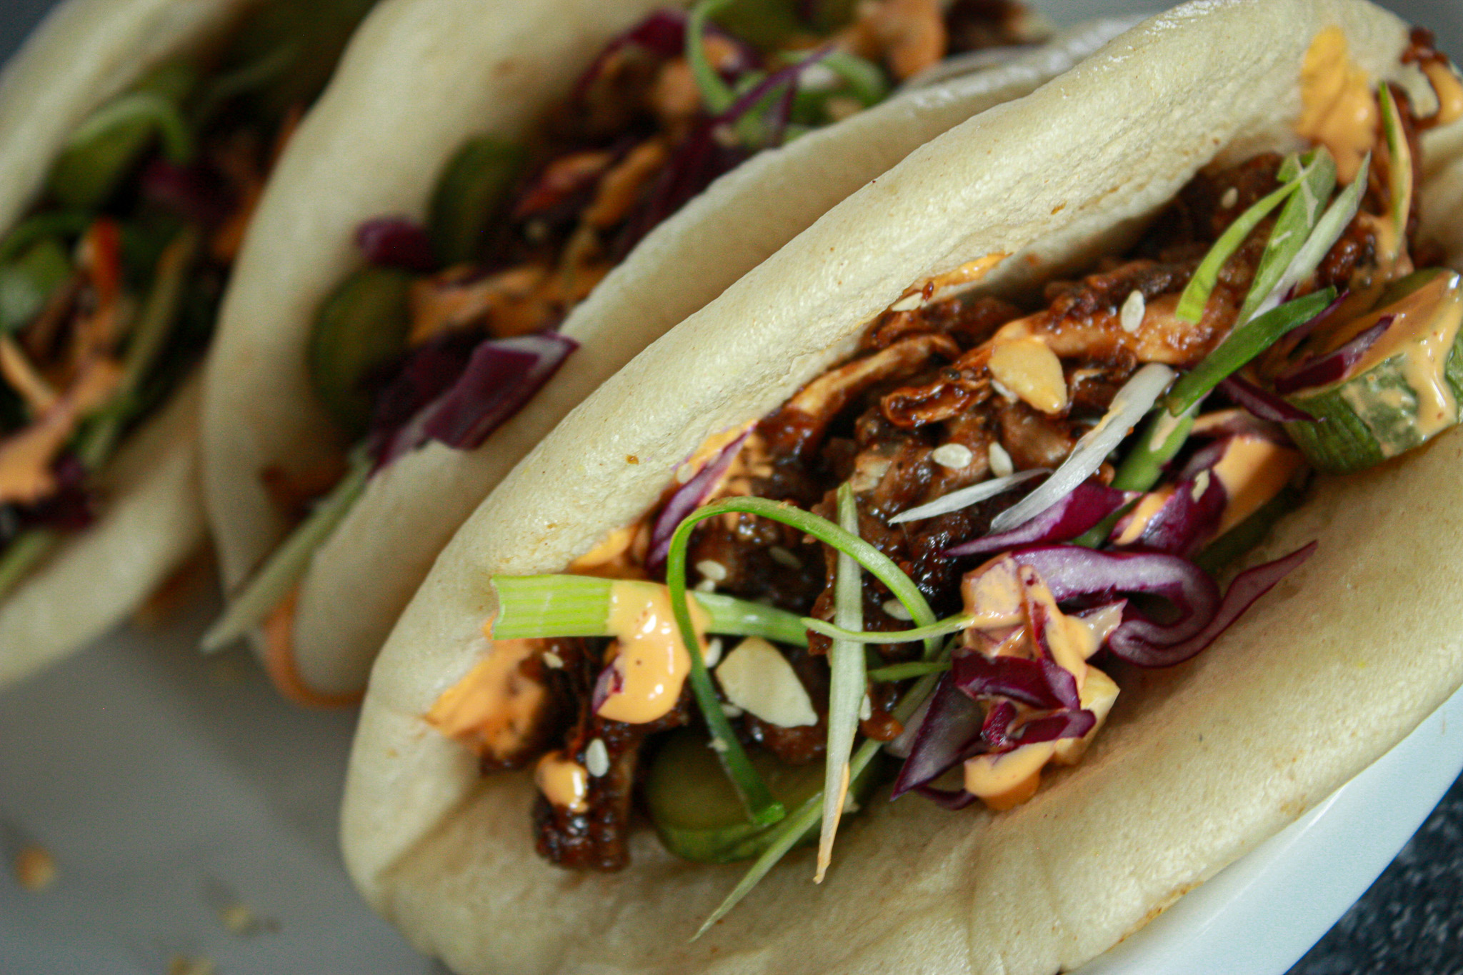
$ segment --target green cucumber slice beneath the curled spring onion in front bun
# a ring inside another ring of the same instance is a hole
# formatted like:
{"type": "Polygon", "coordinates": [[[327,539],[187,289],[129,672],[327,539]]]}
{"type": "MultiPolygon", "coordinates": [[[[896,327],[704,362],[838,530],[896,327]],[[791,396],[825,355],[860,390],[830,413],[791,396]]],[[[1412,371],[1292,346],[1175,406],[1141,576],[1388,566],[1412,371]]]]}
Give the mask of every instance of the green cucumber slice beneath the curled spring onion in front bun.
{"type": "MultiPolygon", "coordinates": [[[[821,762],[790,766],[762,750],[748,754],[784,808],[800,807],[822,788],[821,762]]],[[[850,785],[849,794],[856,803],[868,798],[878,778],[873,773],[876,765],[870,763],[850,785]]],[[[748,820],[704,731],[685,728],[666,737],[645,781],[645,800],[666,849],[696,862],[751,860],[777,836],[775,826],[758,826],[748,820]]],[[[816,839],[815,823],[799,845],[816,839]]]]}

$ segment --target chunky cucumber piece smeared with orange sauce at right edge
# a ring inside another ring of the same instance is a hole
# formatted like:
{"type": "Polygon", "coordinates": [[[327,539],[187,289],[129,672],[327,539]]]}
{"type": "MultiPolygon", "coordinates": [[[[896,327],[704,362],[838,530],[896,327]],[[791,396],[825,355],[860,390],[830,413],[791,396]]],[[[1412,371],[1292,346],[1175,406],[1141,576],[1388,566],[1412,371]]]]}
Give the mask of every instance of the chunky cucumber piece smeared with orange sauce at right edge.
{"type": "Polygon", "coordinates": [[[1410,294],[1374,311],[1393,325],[1340,380],[1286,399],[1317,422],[1286,433],[1320,471],[1349,474],[1419,447],[1459,422],[1463,398],[1463,282],[1418,275],[1410,294]]]}

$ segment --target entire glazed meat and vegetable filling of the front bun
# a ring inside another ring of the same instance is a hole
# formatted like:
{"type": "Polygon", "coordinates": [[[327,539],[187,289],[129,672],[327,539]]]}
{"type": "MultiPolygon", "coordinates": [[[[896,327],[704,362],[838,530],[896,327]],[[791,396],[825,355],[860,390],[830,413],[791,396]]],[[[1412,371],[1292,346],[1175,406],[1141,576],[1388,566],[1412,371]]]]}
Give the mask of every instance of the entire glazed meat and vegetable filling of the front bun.
{"type": "Polygon", "coordinates": [[[1311,151],[1201,172],[1128,253],[1036,303],[910,288],[569,574],[494,579],[481,662],[427,721],[484,772],[534,765],[538,851],[566,867],[623,867],[638,808],[682,855],[775,858],[812,836],[819,766],[843,769],[837,816],[879,746],[903,759],[895,797],[1030,798],[1103,724],[1107,671],[1189,659],[1304,561],[1314,544],[1216,582],[1312,469],[1459,421],[1463,281],[1416,241],[1413,187],[1418,134],[1463,115],[1463,86],[1422,34],[1406,61],[1437,94],[1423,118],[1323,32],[1311,151]],[[522,686],[516,732],[475,734],[522,686]],[[448,721],[468,690],[481,707],[448,721]],[[764,820],[759,789],[780,801],[764,820]]]}

